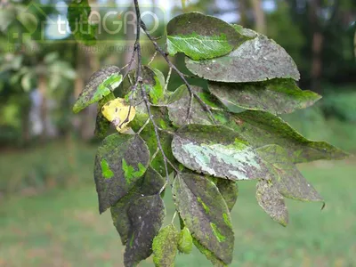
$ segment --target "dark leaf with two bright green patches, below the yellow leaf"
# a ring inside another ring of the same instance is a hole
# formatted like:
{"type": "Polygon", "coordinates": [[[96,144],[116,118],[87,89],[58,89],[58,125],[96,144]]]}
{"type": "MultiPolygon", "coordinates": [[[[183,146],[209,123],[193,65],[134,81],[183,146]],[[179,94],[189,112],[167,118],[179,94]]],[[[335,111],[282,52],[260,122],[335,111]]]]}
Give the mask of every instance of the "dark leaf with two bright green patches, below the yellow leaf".
{"type": "Polygon", "coordinates": [[[101,142],[94,167],[99,210],[123,198],[149,166],[150,150],[140,136],[111,134],[101,142]]]}

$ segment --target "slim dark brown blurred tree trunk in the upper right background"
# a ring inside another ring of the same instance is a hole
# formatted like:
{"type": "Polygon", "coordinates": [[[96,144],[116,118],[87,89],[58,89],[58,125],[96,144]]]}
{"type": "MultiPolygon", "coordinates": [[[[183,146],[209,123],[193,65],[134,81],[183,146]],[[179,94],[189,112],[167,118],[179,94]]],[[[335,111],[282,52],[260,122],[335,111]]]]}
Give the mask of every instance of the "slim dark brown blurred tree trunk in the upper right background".
{"type": "Polygon", "coordinates": [[[320,10],[320,0],[310,1],[310,24],[312,27],[312,91],[321,93],[321,72],[322,60],[321,52],[323,49],[324,36],[321,32],[318,11],[320,10]]]}

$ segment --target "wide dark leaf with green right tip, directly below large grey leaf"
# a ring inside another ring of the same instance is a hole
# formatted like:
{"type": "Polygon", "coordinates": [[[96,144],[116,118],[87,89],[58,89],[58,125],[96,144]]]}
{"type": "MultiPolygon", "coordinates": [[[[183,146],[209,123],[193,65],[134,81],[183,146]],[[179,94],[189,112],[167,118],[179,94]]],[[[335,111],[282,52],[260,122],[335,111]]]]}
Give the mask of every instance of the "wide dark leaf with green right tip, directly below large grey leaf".
{"type": "Polygon", "coordinates": [[[272,114],[291,113],[312,106],[321,96],[303,91],[292,79],[272,79],[255,83],[209,83],[209,90],[231,112],[242,109],[268,111],[272,114]]]}

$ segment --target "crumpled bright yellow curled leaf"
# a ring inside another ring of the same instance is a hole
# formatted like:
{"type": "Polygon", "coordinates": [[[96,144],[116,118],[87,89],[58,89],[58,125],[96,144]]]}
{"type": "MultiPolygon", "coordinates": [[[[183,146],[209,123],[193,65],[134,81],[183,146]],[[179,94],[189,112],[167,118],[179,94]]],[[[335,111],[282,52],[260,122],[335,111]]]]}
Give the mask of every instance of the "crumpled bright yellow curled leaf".
{"type": "Polygon", "coordinates": [[[130,123],[136,115],[136,109],[126,103],[125,99],[117,98],[107,102],[101,113],[117,128],[117,132],[124,134],[127,131],[126,125],[130,123]]]}

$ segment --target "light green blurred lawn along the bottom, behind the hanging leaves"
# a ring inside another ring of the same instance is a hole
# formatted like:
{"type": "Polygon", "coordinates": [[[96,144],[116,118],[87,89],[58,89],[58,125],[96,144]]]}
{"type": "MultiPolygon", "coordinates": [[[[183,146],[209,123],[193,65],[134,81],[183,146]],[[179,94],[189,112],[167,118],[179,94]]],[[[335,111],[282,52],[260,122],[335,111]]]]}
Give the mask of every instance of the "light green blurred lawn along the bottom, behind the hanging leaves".
{"type": "MultiPolygon", "coordinates": [[[[325,209],[320,211],[320,203],[287,201],[290,223],[284,228],[256,204],[255,182],[239,182],[239,200],[232,212],[236,244],[231,266],[354,266],[355,162],[318,162],[301,169],[326,199],[325,209]]],[[[109,213],[99,215],[97,206],[93,184],[4,199],[0,266],[123,266],[124,247],[109,213]]],[[[169,194],[166,207],[171,216],[169,194]]],[[[152,260],[140,266],[152,266],[152,260]]],[[[191,255],[178,255],[175,266],[211,264],[195,249],[191,255]]]]}

